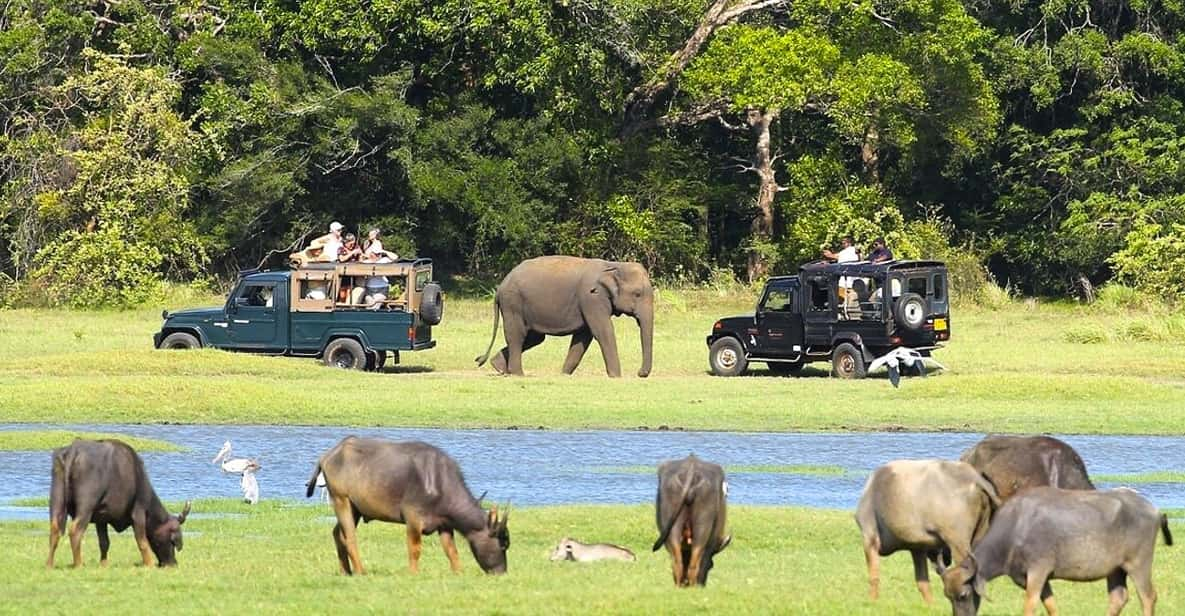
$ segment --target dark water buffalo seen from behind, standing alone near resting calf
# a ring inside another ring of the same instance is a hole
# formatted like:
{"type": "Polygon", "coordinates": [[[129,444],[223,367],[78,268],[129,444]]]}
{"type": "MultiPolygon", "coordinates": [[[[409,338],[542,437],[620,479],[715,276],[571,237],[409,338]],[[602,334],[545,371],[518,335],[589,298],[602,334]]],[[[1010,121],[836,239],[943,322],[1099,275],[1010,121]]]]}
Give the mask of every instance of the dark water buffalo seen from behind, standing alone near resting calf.
{"type": "Polygon", "coordinates": [[[719,464],[694,455],[659,464],[653,551],[666,545],[677,586],[706,584],[713,557],[732,540],[724,534],[725,493],[719,464]]]}

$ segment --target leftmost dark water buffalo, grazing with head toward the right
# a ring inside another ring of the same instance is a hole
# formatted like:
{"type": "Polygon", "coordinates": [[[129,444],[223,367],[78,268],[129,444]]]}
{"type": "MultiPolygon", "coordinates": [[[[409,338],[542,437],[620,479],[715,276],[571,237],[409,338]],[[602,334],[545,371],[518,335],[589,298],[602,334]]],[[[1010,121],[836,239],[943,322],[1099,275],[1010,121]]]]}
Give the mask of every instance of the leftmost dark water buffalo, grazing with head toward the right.
{"type": "Polygon", "coordinates": [[[181,548],[181,525],[188,514],[188,502],[180,515],[168,514],[152,489],[143,461],[126,443],[76,438],[53,450],[50,557],[45,566],[53,569],[53,552],[58,550],[68,515],[73,518],[70,528],[73,566],[82,566],[82,535],[91,522],[98,534],[101,565],[107,565],[110,546],[108,526],[117,533],[132,527],[145,566],[152,566],[153,554],[160,566],[177,565],[174,551],[181,548]]]}

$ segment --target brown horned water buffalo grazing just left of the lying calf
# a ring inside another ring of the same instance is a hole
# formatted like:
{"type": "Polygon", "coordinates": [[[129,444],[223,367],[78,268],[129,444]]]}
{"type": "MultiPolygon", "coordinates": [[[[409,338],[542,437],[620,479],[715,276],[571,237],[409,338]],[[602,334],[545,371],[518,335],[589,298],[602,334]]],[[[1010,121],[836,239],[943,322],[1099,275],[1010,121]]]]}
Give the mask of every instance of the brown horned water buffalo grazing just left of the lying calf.
{"type": "Polygon", "coordinates": [[[347,436],[321,456],[308,480],[307,496],[322,473],[338,515],[333,541],[344,573],[366,572],[358,557],[358,520],[406,525],[412,572],[419,571],[423,535],[431,533],[440,533],[449,565],[460,571],[454,531],[465,535],[482,571],[506,572],[511,545],[506,514],[499,518],[497,507],[488,513],[481,508],[444,451],[428,443],[347,436]]]}

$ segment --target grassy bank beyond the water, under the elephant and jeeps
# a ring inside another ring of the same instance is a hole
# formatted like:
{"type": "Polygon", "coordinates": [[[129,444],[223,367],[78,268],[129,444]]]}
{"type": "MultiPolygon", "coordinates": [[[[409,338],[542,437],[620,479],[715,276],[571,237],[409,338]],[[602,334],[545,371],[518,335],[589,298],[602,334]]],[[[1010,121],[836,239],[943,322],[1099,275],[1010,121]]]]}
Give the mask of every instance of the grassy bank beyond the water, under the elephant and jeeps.
{"type": "MultiPolygon", "coordinates": [[[[210,303],[220,300],[211,297],[210,303]]],[[[492,302],[449,299],[438,346],[384,374],[309,359],[218,351],[158,352],[160,308],[127,313],[0,312],[0,417],[9,422],[214,422],[448,428],[734,430],[972,430],[1183,434],[1180,315],[1011,303],[955,309],[949,370],[907,379],[713,378],[704,335],[751,309],[736,291],[660,291],[654,372],[636,327],[617,320],[627,378],[603,376],[592,348],[572,377],[549,339],[526,354],[529,377],[501,378],[473,358],[489,341],[492,302]],[[1083,332],[1110,333],[1083,336],[1083,332]],[[1139,336],[1128,335],[1132,332],[1139,336]],[[1113,334],[1113,335],[1112,335],[1113,334]]],[[[181,306],[169,306],[180,308],[181,306]]],[[[499,334],[500,338],[500,334],[499,334]]],[[[500,345],[500,341],[499,341],[500,345]]],[[[761,368],[757,370],[761,373],[761,368]]]]}

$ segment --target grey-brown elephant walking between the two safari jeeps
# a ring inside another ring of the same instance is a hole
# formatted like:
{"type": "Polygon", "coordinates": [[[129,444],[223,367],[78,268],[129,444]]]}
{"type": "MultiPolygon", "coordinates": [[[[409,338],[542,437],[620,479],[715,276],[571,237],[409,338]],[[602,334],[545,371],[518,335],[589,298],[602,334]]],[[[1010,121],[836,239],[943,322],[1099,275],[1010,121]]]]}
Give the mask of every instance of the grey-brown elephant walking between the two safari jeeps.
{"type": "Polygon", "coordinates": [[[651,373],[654,346],[654,287],[640,263],[547,256],[526,259],[502,278],[494,295],[494,331],[479,366],[489,359],[501,316],[506,346],[491,364],[500,373],[523,376],[523,352],[547,335],[571,335],[564,374],[576,371],[595,339],[604,370],[621,377],[613,316],[630,315],[642,339],[639,377],[651,373]]]}

